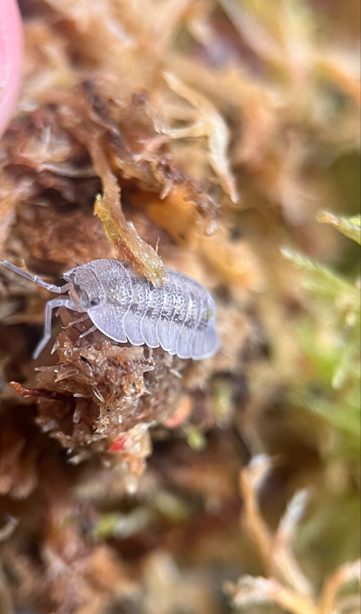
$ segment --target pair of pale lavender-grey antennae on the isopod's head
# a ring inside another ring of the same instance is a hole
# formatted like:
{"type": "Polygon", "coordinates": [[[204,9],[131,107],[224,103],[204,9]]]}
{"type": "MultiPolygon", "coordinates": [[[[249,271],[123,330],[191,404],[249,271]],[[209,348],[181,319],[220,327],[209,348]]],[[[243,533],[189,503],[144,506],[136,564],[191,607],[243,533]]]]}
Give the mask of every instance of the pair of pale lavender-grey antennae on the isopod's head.
{"type": "MultiPolygon", "coordinates": [[[[45,288],[46,290],[50,290],[50,292],[56,292],[58,294],[61,294],[63,292],[67,292],[67,290],[70,290],[70,288],[72,287],[71,283],[64,284],[64,286],[55,286],[54,284],[47,284],[46,281],[43,281],[37,275],[32,275],[31,273],[28,273],[28,271],[23,271],[18,266],[13,265],[11,262],[7,262],[7,260],[0,261],[0,265],[5,266],[10,271],[13,271],[13,273],[18,273],[22,277],[25,277],[25,279],[29,279],[29,281],[34,282],[34,284],[37,284],[37,286],[45,288]]],[[[53,300],[51,301],[48,301],[45,305],[44,335],[42,336],[42,339],[39,341],[36,348],[34,349],[34,352],[32,353],[32,357],[34,359],[37,359],[37,357],[47,345],[48,341],[51,339],[51,312],[55,307],[66,307],[67,309],[72,309],[73,311],[82,311],[82,309],[79,308],[79,305],[77,305],[77,303],[74,303],[74,301],[70,300],[69,296],[66,294],[58,298],[53,298],[53,300]]]]}

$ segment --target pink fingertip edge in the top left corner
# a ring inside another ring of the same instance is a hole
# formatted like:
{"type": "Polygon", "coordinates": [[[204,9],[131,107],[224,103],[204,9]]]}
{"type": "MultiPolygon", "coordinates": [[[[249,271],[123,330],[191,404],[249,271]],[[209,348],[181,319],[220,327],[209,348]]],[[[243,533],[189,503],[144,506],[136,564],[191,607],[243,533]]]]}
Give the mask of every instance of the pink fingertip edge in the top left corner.
{"type": "Polygon", "coordinates": [[[0,0],[0,135],[16,111],[21,84],[23,31],[16,0],[0,0]]]}

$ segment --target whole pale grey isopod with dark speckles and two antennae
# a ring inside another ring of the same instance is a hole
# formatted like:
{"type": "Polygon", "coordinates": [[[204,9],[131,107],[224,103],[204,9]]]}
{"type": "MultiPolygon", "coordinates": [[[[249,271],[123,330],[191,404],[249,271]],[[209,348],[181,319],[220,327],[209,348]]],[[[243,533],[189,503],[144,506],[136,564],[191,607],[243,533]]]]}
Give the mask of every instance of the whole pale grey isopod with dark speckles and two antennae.
{"type": "Polygon", "coordinates": [[[7,260],[0,265],[60,294],[45,306],[44,335],[34,358],[51,338],[52,309],[62,306],[88,314],[93,322],[89,332],[97,328],[120,343],[161,346],[171,355],[194,360],[218,349],[215,301],[207,289],[176,271],[166,269],[168,281],[156,288],[129,263],[104,258],[76,266],[64,273],[64,286],[53,286],[7,260]]]}

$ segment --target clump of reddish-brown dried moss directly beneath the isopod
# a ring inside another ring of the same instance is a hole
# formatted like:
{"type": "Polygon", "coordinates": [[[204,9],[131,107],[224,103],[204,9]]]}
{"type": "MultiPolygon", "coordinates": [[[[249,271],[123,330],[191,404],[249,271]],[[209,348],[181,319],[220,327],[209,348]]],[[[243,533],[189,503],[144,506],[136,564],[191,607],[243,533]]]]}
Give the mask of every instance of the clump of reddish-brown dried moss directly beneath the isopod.
{"type": "MultiPolygon", "coordinates": [[[[64,308],[61,314],[64,330],[55,344],[56,365],[37,367],[33,386],[12,386],[25,397],[39,398],[37,424],[60,441],[72,463],[107,453],[108,463],[129,463],[129,488],[135,488],[151,453],[149,430],[175,429],[191,420],[196,403],[189,395],[199,389],[197,367],[161,348],[124,347],[101,332],[85,334],[91,327],[88,318],[74,321],[64,308]]],[[[211,391],[202,397],[197,413],[202,406],[208,411],[211,391]]],[[[210,416],[204,427],[213,424],[210,416]]]]}

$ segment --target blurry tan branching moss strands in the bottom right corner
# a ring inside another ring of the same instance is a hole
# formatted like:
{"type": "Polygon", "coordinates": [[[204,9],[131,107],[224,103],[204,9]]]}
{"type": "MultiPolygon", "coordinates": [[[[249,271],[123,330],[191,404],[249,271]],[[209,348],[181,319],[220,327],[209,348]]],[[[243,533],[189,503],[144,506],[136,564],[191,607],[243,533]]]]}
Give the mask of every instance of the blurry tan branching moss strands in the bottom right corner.
{"type": "Polygon", "coordinates": [[[245,503],[244,526],[249,532],[268,572],[267,577],[243,575],[237,585],[226,585],[237,608],[254,605],[275,605],[294,614],[329,614],[358,612],[361,559],[341,565],[324,581],[319,596],[305,577],[290,548],[297,525],[305,513],[310,492],[298,491],[289,502],[275,534],[267,529],[257,505],[257,489],[270,469],[267,457],[254,457],[249,467],[241,470],[240,489],[245,503]],[[342,596],[342,589],[349,588],[342,596]]]}

